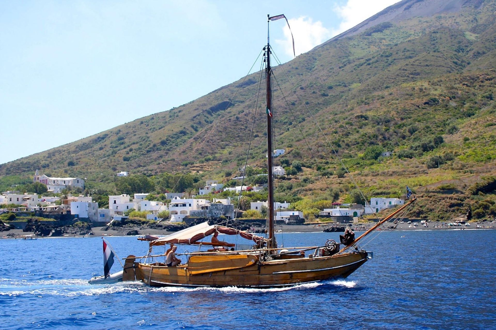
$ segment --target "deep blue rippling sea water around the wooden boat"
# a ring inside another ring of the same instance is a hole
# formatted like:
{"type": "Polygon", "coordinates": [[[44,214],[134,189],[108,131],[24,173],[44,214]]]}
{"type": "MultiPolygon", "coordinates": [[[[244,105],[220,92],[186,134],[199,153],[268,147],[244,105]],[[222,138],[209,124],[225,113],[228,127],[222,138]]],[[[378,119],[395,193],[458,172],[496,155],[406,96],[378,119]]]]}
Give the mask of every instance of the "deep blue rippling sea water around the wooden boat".
{"type": "MultiPolygon", "coordinates": [[[[496,329],[495,236],[382,232],[347,279],[274,289],[90,285],[103,273],[100,238],[3,239],[0,329],[496,329]]],[[[327,238],[338,234],[278,234],[285,246],[327,238]]],[[[147,250],[107,239],[121,258],[147,250]]]]}

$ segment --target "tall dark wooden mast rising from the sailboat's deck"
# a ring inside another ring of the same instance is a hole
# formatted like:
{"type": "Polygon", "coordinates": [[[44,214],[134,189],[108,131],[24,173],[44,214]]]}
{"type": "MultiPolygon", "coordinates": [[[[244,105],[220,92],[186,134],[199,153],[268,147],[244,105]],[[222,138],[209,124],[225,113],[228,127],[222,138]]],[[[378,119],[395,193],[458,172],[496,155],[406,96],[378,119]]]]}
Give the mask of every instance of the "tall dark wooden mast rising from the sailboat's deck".
{"type": "Polygon", "coordinates": [[[267,15],[267,47],[266,54],[266,82],[267,82],[267,214],[268,214],[268,247],[276,248],[276,237],[274,236],[274,174],[272,171],[272,86],[271,86],[271,69],[270,69],[270,44],[269,44],[269,15],[267,15]]]}

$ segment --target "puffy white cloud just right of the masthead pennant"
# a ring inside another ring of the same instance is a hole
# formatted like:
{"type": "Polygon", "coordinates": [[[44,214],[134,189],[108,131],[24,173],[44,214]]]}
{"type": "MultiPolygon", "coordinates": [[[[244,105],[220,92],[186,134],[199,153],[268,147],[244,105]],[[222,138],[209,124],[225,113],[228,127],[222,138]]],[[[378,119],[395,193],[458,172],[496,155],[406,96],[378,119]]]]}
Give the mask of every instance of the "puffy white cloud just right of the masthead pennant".
{"type": "MultiPolygon", "coordinates": [[[[331,32],[322,26],[322,22],[313,22],[311,17],[302,16],[288,20],[295,38],[296,55],[309,51],[311,48],[322,44],[331,37],[331,32]]],[[[284,47],[286,54],[293,57],[293,43],[291,32],[287,25],[283,28],[284,40],[276,40],[276,43],[284,47]]]]}

